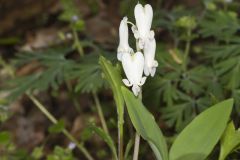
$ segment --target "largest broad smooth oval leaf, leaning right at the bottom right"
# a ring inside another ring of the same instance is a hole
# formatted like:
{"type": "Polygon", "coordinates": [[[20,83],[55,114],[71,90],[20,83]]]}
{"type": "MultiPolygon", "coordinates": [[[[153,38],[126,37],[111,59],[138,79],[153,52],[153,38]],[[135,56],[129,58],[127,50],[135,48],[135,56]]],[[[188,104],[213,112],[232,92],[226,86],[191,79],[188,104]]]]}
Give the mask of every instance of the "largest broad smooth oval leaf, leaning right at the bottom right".
{"type": "Polygon", "coordinates": [[[197,116],[177,137],[170,160],[204,160],[226,128],[233,99],[218,103],[197,116]]]}

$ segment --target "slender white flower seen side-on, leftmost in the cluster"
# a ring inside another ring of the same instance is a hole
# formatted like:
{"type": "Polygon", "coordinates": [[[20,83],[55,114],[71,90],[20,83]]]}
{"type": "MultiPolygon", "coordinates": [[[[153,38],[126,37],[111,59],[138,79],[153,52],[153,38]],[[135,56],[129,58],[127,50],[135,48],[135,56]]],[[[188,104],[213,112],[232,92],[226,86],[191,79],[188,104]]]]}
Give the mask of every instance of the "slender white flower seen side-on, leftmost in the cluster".
{"type": "Polygon", "coordinates": [[[119,46],[117,49],[117,58],[119,61],[122,60],[122,55],[124,53],[132,53],[132,48],[128,44],[128,26],[127,17],[124,17],[119,26],[119,46]]]}

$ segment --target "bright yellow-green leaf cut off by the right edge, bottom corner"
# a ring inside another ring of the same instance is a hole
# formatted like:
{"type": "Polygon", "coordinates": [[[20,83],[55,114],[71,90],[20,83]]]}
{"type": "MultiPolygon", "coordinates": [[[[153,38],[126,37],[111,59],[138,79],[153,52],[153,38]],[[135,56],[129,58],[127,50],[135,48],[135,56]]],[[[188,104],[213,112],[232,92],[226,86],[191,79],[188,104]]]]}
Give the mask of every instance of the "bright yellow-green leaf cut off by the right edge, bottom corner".
{"type": "Polygon", "coordinates": [[[224,160],[228,154],[240,145],[240,130],[236,130],[233,122],[230,122],[221,138],[221,152],[219,160],[224,160]]]}

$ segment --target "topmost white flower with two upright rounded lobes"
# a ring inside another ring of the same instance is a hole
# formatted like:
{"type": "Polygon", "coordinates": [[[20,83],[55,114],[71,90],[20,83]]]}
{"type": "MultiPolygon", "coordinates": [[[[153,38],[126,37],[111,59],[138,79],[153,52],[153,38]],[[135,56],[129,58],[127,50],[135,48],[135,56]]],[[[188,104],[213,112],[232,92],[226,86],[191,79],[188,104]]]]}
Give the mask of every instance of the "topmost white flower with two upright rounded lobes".
{"type": "Polygon", "coordinates": [[[145,41],[154,38],[154,32],[151,31],[153,9],[151,5],[146,4],[144,7],[137,4],[134,9],[136,26],[132,27],[135,38],[138,40],[138,47],[144,48],[145,41]]]}

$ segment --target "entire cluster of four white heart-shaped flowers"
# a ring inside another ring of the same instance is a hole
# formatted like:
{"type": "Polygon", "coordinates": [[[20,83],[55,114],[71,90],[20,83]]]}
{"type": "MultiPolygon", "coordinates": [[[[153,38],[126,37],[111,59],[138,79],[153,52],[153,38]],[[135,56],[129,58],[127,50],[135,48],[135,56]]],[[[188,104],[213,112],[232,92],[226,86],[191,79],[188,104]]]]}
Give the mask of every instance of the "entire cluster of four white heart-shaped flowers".
{"type": "Polygon", "coordinates": [[[127,77],[127,79],[123,79],[123,83],[128,87],[132,86],[132,91],[137,96],[141,90],[140,87],[146,81],[146,76],[153,77],[155,75],[158,62],[154,59],[156,41],[154,31],[151,30],[153,18],[151,5],[146,4],[143,7],[141,4],[137,4],[134,16],[136,25],[128,22],[127,17],[124,17],[120,23],[117,58],[122,62],[127,77]],[[128,44],[128,24],[132,25],[131,29],[136,39],[136,53],[128,44]]]}

